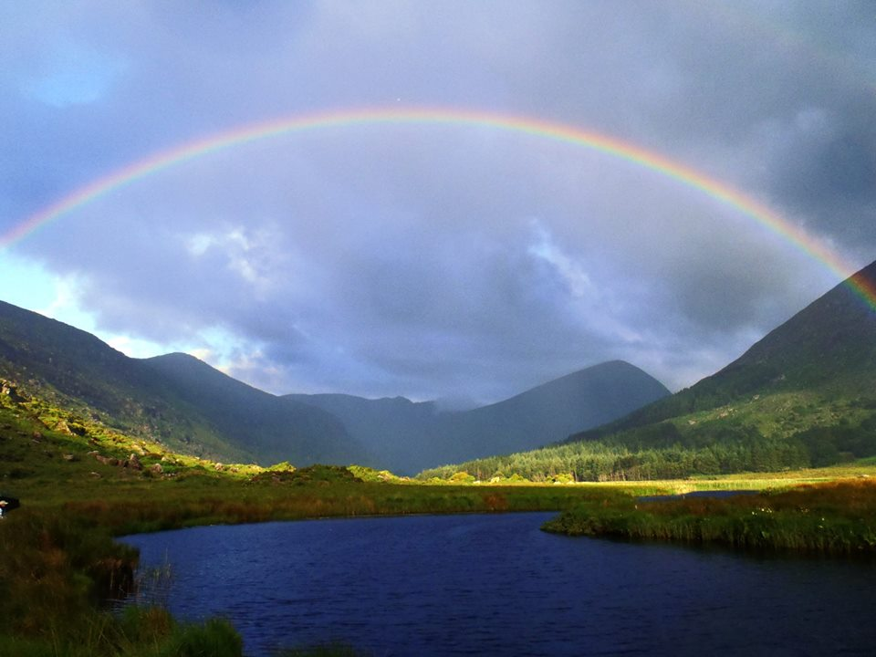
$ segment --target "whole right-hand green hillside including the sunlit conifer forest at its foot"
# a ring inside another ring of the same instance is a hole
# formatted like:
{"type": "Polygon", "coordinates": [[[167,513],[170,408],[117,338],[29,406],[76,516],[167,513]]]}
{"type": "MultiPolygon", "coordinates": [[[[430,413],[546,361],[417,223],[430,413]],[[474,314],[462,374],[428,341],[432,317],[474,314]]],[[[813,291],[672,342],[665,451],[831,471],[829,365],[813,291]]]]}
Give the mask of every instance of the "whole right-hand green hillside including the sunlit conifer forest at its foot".
{"type": "Polygon", "coordinates": [[[713,376],[563,444],[464,470],[640,479],[837,464],[876,454],[876,263],[834,287],[713,376]]]}

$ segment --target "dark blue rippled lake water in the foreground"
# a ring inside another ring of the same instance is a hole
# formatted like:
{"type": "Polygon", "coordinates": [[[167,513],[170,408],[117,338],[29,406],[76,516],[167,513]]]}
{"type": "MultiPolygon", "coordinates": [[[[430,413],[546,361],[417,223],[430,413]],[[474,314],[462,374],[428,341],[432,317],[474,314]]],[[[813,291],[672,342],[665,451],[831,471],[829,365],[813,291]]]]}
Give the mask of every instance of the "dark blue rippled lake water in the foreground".
{"type": "Polygon", "coordinates": [[[171,610],[248,655],[876,654],[871,563],[570,538],[551,514],[200,527],[127,537],[170,562],[171,610]]]}

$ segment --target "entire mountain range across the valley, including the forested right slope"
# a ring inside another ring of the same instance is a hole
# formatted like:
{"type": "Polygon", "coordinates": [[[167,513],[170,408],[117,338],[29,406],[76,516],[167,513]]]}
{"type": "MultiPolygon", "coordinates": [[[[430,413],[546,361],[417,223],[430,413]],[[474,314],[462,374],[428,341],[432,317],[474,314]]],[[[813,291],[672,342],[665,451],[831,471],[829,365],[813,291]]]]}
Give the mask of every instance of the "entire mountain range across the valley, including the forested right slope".
{"type": "Polygon", "coordinates": [[[613,361],[506,401],[440,412],[403,398],[276,397],[183,354],[130,359],[84,331],[0,302],[0,379],[90,420],[226,459],[399,472],[478,459],[464,469],[542,479],[777,470],[876,458],[874,308],[876,263],[672,396],[613,361]],[[579,433],[563,444],[519,452],[572,431],[579,433]],[[485,458],[508,453],[515,454],[485,458]]]}

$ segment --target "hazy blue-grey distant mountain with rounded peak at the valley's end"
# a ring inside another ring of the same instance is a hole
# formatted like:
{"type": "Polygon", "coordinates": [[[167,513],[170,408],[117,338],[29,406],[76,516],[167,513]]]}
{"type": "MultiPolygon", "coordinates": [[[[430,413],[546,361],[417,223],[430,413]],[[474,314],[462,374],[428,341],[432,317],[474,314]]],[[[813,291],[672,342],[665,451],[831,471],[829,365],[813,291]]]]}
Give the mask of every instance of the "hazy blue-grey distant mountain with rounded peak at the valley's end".
{"type": "Polygon", "coordinates": [[[464,412],[402,397],[288,395],[337,415],[366,445],[371,464],[412,474],[426,467],[506,454],[562,440],[660,399],[669,391],[631,364],[615,360],[464,412]]]}

